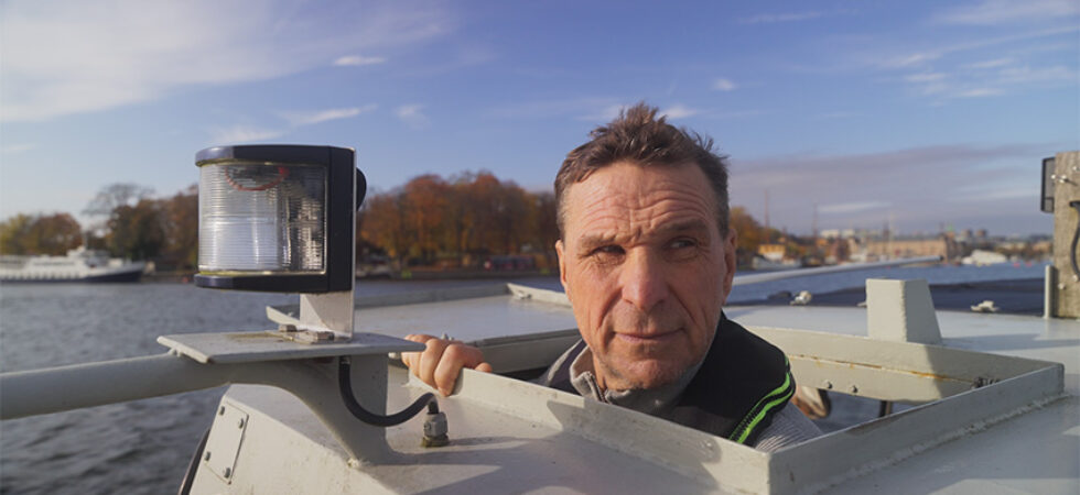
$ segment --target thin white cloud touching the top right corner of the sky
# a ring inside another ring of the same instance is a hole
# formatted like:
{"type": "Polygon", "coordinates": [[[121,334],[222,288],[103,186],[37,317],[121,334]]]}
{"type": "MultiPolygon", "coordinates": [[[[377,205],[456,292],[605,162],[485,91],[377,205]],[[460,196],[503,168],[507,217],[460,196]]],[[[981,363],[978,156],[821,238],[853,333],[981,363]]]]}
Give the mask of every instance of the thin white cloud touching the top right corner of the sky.
{"type": "Polygon", "coordinates": [[[973,6],[939,12],[931,21],[940,24],[994,25],[1028,21],[1057,21],[1080,13],[1076,0],[983,0],[973,6]]]}

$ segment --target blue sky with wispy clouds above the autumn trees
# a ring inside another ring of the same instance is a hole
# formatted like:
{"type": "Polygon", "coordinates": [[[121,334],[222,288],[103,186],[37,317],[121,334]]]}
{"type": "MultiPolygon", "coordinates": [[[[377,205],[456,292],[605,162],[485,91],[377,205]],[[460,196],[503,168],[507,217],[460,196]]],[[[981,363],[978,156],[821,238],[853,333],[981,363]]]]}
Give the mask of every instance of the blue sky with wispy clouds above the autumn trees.
{"type": "Polygon", "coordinates": [[[355,148],[376,191],[551,190],[645,101],[713,138],[732,204],[775,228],[1048,234],[1078,65],[1077,0],[4,0],[0,219],[168,197],[198,150],[246,143],[355,148]]]}

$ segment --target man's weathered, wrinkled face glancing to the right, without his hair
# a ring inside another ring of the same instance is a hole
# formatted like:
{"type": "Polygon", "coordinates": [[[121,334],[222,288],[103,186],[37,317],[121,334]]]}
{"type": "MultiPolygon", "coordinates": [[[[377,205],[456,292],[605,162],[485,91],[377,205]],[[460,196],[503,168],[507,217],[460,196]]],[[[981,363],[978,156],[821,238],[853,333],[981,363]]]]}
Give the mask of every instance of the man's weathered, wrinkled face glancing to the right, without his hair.
{"type": "Polygon", "coordinates": [[[735,272],[709,184],[616,163],[565,191],[559,271],[603,388],[671,383],[708,352],[735,272]]]}

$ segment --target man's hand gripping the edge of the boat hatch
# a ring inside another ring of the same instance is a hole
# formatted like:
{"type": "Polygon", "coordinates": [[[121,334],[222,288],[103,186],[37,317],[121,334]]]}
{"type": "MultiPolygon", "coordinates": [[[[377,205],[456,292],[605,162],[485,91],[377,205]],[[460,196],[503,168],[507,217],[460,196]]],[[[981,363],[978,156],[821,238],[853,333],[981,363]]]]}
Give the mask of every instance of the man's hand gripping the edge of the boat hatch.
{"type": "Polygon", "coordinates": [[[484,362],[484,353],[461,341],[439,339],[423,333],[406,336],[406,340],[420,342],[428,349],[423,352],[403,352],[401,361],[409,366],[413,376],[438,388],[443,397],[454,391],[457,375],[463,367],[492,372],[492,365],[484,362]]]}

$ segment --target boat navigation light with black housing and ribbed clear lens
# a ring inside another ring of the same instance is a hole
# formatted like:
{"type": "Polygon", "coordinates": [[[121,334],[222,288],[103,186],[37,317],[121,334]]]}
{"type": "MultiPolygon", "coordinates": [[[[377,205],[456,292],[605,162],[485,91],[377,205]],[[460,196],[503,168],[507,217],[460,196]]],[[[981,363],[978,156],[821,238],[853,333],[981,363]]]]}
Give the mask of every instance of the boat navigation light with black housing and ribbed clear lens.
{"type": "Polygon", "coordinates": [[[366,190],[353,150],[210,147],[195,155],[195,285],[276,293],[353,289],[356,209],[366,190]]]}

